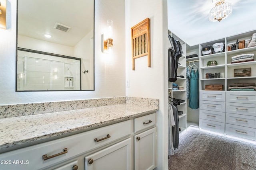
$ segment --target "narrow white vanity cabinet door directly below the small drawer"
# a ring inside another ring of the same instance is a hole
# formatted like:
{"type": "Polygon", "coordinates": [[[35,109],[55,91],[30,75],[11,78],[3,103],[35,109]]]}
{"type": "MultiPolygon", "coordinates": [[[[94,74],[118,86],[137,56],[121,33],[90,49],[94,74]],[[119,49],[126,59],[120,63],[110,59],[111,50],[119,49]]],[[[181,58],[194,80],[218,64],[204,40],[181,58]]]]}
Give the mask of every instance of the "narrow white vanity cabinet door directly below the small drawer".
{"type": "Polygon", "coordinates": [[[156,127],[134,136],[134,170],[156,167],[156,127]]]}

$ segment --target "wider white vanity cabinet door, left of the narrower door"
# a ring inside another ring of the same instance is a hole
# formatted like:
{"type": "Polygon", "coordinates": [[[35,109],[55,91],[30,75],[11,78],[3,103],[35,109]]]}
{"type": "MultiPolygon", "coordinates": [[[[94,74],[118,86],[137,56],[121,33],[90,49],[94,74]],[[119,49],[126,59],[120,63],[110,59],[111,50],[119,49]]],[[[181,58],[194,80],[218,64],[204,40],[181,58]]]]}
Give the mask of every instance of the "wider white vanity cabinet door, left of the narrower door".
{"type": "Polygon", "coordinates": [[[85,157],[85,170],[131,170],[131,138],[85,157]]]}

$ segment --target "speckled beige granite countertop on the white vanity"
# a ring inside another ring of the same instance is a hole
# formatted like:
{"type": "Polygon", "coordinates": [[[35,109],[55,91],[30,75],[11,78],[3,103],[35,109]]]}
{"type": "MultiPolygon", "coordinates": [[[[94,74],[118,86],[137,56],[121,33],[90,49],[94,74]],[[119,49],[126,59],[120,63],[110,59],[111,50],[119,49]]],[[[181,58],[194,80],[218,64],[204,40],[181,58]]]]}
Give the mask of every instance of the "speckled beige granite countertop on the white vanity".
{"type": "Polygon", "coordinates": [[[158,110],[158,106],[116,104],[0,119],[0,150],[107,125],[158,110]]]}

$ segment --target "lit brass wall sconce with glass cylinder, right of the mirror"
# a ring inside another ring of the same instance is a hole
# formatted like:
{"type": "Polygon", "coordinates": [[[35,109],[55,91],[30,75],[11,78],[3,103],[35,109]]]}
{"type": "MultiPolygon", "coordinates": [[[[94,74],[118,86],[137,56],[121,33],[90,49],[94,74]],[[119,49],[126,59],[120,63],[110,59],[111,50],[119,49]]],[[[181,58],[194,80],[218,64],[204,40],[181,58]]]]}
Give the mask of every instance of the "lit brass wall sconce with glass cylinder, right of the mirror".
{"type": "Polygon", "coordinates": [[[112,20],[107,20],[107,27],[108,27],[108,32],[106,33],[107,39],[105,40],[104,34],[102,34],[102,52],[103,53],[110,53],[112,51],[113,47],[113,21],[112,20]]]}

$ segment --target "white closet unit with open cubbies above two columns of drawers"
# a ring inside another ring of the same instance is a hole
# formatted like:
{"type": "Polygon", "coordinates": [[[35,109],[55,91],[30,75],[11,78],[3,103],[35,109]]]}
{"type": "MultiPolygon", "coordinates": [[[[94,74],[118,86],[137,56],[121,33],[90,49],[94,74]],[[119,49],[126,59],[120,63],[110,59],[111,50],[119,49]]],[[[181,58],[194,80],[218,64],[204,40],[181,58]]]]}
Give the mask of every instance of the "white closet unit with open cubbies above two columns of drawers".
{"type": "Polygon", "coordinates": [[[248,43],[256,30],[238,35],[224,37],[216,41],[201,43],[193,47],[187,45],[187,55],[197,54],[199,57],[187,61],[199,60],[200,67],[200,116],[199,127],[220,133],[256,140],[256,92],[230,91],[228,87],[234,83],[256,83],[256,61],[231,63],[231,57],[241,54],[254,54],[256,47],[248,43]],[[227,51],[228,46],[245,40],[244,49],[227,51]],[[225,51],[211,55],[202,55],[202,48],[214,43],[224,43],[225,51]],[[216,66],[207,66],[208,61],[217,61],[216,66]],[[251,68],[251,76],[235,77],[234,69],[251,68]],[[223,73],[220,78],[206,78],[206,73],[223,73]],[[205,85],[223,85],[222,91],[205,90],[205,85]]]}

